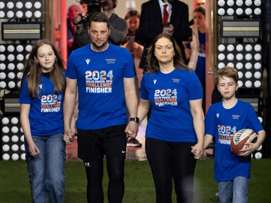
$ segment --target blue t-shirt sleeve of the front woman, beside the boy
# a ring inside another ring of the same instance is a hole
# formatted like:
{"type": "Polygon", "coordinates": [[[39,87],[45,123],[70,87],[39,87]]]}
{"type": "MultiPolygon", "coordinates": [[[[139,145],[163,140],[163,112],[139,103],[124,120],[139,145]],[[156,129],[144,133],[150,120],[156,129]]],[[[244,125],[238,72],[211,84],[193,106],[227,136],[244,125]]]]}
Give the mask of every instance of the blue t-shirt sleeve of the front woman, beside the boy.
{"type": "Polygon", "coordinates": [[[188,80],[188,98],[189,100],[196,100],[203,98],[202,85],[193,70],[191,70],[191,76],[188,80]]]}

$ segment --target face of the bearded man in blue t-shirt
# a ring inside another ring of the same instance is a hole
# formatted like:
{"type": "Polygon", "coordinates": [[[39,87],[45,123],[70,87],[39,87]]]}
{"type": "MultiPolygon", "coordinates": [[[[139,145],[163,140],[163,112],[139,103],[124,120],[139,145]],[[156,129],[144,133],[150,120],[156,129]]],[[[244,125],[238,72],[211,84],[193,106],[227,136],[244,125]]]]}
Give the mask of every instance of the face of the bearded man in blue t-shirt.
{"type": "Polygon", "coordinates": [[[92,22],[88,27],[88,35],[91,38],[94,51],[103,51],[108,42],[110,30],[106,22],[92,22]]]}

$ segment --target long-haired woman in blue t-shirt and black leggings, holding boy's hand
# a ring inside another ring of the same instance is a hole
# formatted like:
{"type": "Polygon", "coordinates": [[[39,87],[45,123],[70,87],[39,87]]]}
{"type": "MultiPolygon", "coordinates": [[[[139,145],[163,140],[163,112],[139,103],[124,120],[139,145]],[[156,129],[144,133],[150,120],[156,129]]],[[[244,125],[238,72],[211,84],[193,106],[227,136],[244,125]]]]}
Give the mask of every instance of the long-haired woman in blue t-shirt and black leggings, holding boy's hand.
{"type": "Polygon", "coordinates": [[[172,202],[172,178],[177,202],[192,202],[195,158],[203,151],[202,87],[194,71],[182,61],[175,40],[167,34],[160,34],[150,45],[147,63],[138,117],[141,122],[152,107],[145,148],[156,202],[172,202]],[[196,149],[200,153],[194,157],[196,149]]]}

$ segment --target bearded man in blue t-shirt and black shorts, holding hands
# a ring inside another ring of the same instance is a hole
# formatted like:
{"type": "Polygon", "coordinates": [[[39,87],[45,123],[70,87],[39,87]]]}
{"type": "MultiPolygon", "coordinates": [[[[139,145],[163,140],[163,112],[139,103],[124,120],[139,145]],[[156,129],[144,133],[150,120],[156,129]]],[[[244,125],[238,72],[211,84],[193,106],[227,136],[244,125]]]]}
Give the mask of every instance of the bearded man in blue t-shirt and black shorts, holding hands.
{"type": "Polygon", "coordinates": [[[73,140],[71,119],[78,85],[78,157],[85,165],[87,201],[94,203],[104,201],[104,155],[109,176],[108,201],[122,202],[126,134],[135,138],[138,131],[133,58],[129,50],[108,43],[110,31],[107,16],[94,13],[88,25],[92,43],[72,52],[66,73],[64,140],[66,144],[73,140]],[[131,117],[127,126],[125,101],[131,117]]]}

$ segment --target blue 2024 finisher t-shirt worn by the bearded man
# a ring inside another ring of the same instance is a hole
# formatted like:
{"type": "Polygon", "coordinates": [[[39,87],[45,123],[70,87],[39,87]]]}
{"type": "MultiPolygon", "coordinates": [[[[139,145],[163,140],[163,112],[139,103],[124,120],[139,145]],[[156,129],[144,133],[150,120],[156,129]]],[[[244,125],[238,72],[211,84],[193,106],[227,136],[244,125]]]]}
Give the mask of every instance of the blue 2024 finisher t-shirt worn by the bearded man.
{"type": "Polygon", "coordinates": [[[133,78],[134,62],[128,49],[109,44],[95,52],[86,45],[72,52],[67,77],[77,79],[79,129],[101,129],[127,122],[124,78],[133,78]]]}

